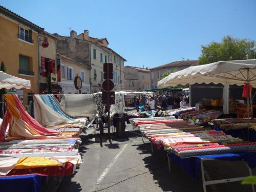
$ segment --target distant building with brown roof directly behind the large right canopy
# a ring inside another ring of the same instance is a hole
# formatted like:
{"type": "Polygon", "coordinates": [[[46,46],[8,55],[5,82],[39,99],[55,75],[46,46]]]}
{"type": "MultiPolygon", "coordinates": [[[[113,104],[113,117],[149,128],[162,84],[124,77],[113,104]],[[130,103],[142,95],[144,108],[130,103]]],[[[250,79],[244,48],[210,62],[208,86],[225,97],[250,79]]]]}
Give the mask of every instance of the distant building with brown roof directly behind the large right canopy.
{"type": "Polygon", "coordinates": [[[163,78],[164,72],[174,73],[190,66],[196,65],[197,60],[181,60],[167,63],[162,66],[151,68],[151,88],[157,88],[157,82],[163,78]]]}

